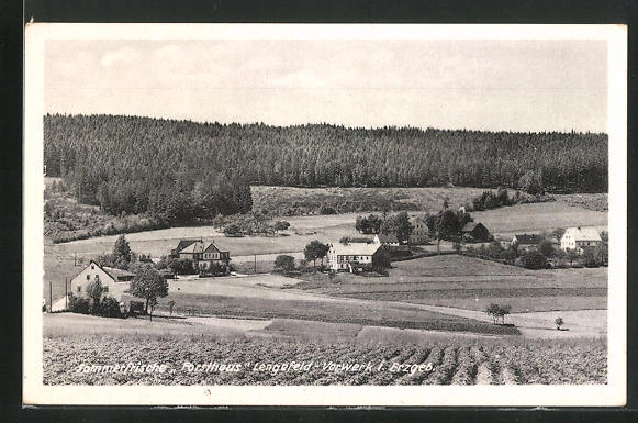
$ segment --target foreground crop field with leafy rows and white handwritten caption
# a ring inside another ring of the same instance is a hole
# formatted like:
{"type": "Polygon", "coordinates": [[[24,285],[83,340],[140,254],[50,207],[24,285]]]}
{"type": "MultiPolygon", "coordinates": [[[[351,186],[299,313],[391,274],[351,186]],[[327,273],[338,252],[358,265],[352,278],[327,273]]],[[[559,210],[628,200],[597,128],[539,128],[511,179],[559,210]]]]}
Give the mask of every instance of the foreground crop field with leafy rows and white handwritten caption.
{"type": "Polygon", "coordinates": [[[606,378],[602,341],[354,345],[202,336],[44,338],[45,385],[601,385],[606,378]],[[156,370],[136,371],[136,364],[156,370]],[[163,365],[164,371],[157,370],[163,365]]]}

